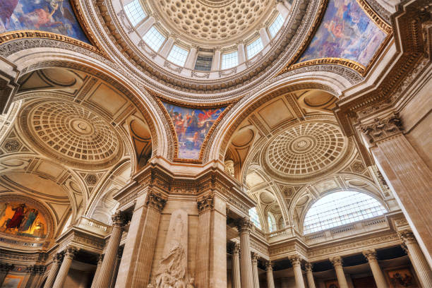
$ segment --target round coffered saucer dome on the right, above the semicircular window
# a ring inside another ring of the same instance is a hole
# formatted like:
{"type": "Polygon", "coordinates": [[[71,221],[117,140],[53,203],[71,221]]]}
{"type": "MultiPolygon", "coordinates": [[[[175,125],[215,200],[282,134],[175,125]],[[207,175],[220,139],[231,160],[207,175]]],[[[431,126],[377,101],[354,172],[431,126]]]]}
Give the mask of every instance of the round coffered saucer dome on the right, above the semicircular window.
{"type": "Polygon", "coordinates": [[[284,180],[318,176],[346,158],[348,142],[335,124],[305,122],[270,140],[263,153],[263,166],[284,180]]]}

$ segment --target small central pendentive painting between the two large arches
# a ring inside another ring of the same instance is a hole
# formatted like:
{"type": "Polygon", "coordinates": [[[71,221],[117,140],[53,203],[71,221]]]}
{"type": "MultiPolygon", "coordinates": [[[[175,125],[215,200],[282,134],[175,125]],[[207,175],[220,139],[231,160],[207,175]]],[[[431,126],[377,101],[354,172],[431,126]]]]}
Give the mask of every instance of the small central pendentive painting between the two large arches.
{"type": "Polygon", "coordinates": [[[226,107],[195,109],[163,103],[176,130],[181,159],[199,160],[205,136],[226,107]]]}

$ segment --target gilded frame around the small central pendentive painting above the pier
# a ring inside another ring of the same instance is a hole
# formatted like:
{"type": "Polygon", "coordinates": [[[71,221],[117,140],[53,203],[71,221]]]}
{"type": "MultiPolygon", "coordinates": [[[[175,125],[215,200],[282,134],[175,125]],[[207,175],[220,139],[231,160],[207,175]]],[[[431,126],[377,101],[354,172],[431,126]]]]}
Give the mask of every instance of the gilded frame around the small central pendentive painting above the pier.
{"type": "Polygon", "coordinates": [[[177,138],[176,129],[174,127],[174,124],[172,123],[171,117],[169,116],[169,114],[167,112],[167,109],[164,107],[164,104],[162,104],[162,101],[167,102],[169,104],[179,105],[181,107],[195,108],[195,109],[205,109],[205,108],[215,109],[215,108],[219,108],[219,107],[224,107],[225,105],[222,105],[222,104],[214,104],[214,105],[209,105],[209,104],[205,104],[205,105],[204,104],[201,104],[201,105],[178,104],[177,102],[174,102],[172,100],[164,100],[164,99],[161,100],[160,97],[156,97],[155,99],[157,101],[157,104],[159,104],[160,109],[162,109],[162,112],[164,113],[165,118],[169,119],[169,121],[168,121],[169,128],[171,128],[171,135],[172,135],[172,138],[174,140],[174,162],[187,162],[187,163],[197,163],[197,164],[202,163],[203,162],[203,154],[204,154],[205,148],[207,147],[210,136],[212,135],[213,131],[215,131],[217,124],[219,124],[219,122],[222,120],[224,115],[227,114],[229,109],[232,108],[234,103],[232,102],[231,104],[227,104],[224,111],[219,115],[219,117],[217,117],[216,121],[213,123],[212,127],[210,128],[207,135],[205,136],[205,139],[203,141],[203,145],[201,145],[200,157],[198,158],[198,160],[194,160],[194,159],[179,158],[179,142],[177,140],[178,138],[177,138]]]}

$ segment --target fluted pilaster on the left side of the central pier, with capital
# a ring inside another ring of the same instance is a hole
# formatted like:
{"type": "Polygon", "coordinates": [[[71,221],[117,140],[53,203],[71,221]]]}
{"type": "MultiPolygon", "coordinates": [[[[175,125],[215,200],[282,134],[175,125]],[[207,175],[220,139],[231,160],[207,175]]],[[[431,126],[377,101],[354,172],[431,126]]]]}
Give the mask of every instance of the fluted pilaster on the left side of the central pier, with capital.
{"type": "Polygon", "coordinates": [[[132,283],[128,288],[146,287],[150,281],[150,270],[152,268],[153,254],[155,253],[160,213],[164,209],[165,203],[167,203],[167,200],[162,197],[161,193],[152,191],[148,193],[146,202],[148,208],[143,227],[143,236],[141,237],[138,256],[133,268],[132,283]]]}

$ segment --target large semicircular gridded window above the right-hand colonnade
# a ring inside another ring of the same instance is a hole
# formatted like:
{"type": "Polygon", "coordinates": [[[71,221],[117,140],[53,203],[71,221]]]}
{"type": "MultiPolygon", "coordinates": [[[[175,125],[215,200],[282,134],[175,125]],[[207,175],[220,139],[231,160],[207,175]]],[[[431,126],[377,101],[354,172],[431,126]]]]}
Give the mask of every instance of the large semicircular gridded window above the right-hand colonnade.
{"type": "Polygon", "coordinates": [[[387,212],[381,203],[365,193],[331,193],[312,205],[304,218],[304,234],[368,219],[387,212]]]}

